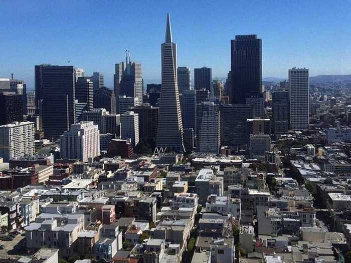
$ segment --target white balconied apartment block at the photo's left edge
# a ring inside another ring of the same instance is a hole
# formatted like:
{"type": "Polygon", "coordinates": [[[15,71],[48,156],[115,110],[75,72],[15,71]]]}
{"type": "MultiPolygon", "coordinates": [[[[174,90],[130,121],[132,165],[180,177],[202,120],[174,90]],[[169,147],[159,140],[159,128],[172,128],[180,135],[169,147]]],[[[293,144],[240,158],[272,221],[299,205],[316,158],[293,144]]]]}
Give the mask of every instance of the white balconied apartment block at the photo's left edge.
{"type": "Polygon", "coordinates": [[[0,126],[0,157],[8,162],[12,157],[33,155],[34,122],[13,122],[0,126]]]}

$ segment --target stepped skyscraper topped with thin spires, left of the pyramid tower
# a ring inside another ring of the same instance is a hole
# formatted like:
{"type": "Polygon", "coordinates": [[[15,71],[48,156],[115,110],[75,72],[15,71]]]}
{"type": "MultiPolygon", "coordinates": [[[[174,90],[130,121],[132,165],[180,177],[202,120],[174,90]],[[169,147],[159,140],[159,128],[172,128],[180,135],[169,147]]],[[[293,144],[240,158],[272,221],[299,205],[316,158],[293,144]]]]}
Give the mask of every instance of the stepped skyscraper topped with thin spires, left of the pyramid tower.
{"type": "Polygon", "coordinates": [[[142,104],[142,67],[140,63],[130,61],[129,51],[126,51],[125,64],[115,64],[114,87],[118,95],[138,98],[138,105],[142,104]]]}

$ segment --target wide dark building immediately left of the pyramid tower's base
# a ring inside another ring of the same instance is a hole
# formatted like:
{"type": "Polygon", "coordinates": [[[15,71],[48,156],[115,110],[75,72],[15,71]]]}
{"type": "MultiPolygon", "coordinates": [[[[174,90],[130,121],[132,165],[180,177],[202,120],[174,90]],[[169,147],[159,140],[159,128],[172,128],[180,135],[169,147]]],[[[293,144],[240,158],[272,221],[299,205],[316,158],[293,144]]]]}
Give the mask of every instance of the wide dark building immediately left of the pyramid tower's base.
{"type": "Polygon", "coordinates": [[[157,136],[159,108],[144,103],[143,105],[135,106],[130,110],[138,114],[140,140],[148,142],[154,147],[156,145],[155,138],[157,136]]]}

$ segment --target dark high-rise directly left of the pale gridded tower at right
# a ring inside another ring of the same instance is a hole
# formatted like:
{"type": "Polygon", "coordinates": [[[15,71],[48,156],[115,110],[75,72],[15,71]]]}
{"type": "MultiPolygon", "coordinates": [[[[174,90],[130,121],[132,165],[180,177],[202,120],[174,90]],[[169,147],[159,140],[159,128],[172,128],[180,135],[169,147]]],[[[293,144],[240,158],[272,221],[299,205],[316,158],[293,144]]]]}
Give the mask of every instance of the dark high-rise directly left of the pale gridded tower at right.
{"type": "Polygon", "coordinates": [[[289,92],[273,92],[272,104],[274,134],[287,133],[289,130],[289,92]]]}

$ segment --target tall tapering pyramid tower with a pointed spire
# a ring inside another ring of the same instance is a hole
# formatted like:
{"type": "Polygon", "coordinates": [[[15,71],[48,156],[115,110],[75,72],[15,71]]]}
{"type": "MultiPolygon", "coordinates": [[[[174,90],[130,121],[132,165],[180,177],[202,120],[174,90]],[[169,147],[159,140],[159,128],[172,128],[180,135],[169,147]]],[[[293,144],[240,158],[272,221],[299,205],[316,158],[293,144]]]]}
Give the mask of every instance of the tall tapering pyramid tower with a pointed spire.
{"type": "Polygon", "coordinates": [[[165,42],[161,44],[162,86],[155,152],[184,152],[183,123],[177,84],[177,45],[172,42],[167,14],[165,42]]]}

